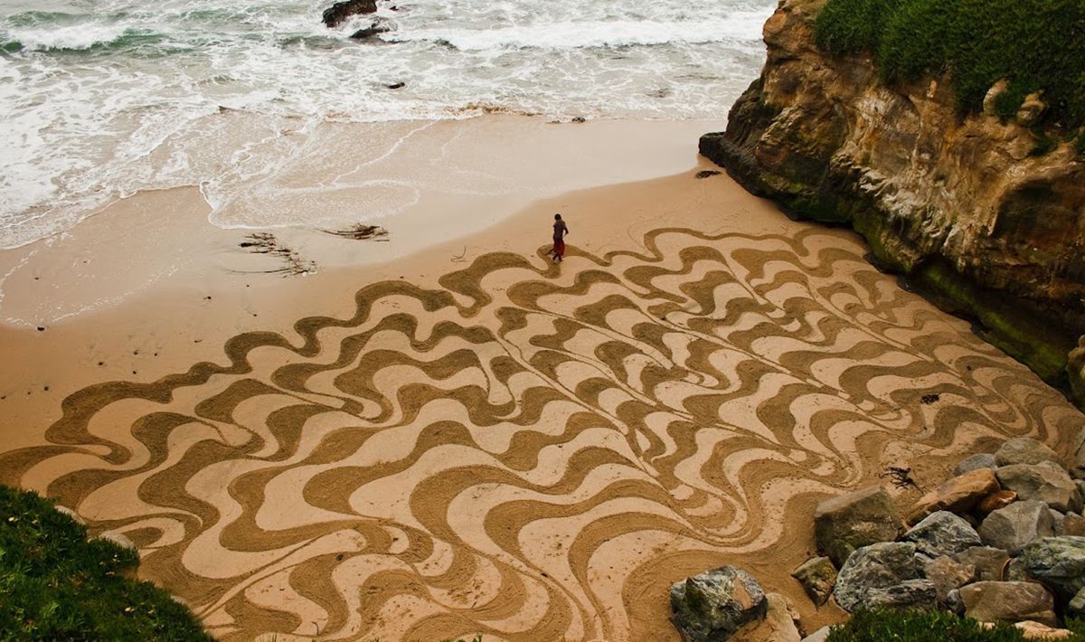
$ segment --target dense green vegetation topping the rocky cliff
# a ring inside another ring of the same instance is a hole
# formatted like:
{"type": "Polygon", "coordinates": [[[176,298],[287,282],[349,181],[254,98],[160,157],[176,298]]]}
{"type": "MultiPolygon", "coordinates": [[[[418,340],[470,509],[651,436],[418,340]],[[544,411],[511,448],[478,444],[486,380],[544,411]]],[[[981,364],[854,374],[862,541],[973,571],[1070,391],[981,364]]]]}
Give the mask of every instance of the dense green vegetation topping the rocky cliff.
{"type": "Polygon", "coordinates": [[[828,0],[814,37],[837,55],[872,52],[889,84],[948,72],[963,112],[1008,78],[1000,115],[1043,91],[1048,123],[1085,125],[1085,0],[828,0]]]}

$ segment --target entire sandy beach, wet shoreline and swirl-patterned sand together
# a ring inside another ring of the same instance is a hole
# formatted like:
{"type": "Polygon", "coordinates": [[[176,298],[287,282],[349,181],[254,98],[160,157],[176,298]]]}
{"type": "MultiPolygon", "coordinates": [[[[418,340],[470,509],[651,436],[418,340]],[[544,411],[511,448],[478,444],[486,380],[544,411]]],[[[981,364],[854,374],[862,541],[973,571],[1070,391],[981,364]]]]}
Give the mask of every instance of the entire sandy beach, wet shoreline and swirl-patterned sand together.
{"type": "Polygon", "coordinates": [[[239,206],[399,200],[386,240],[221,229],[192,187],[2,251],[2,480],[224,640],[678,640],[667,588],[720,564],[837,621],[789,576],[819,499],[1085,418],[854,233],[698,178],[720,125],[488,116],[369,156],[343,126],[239,206]]]}

